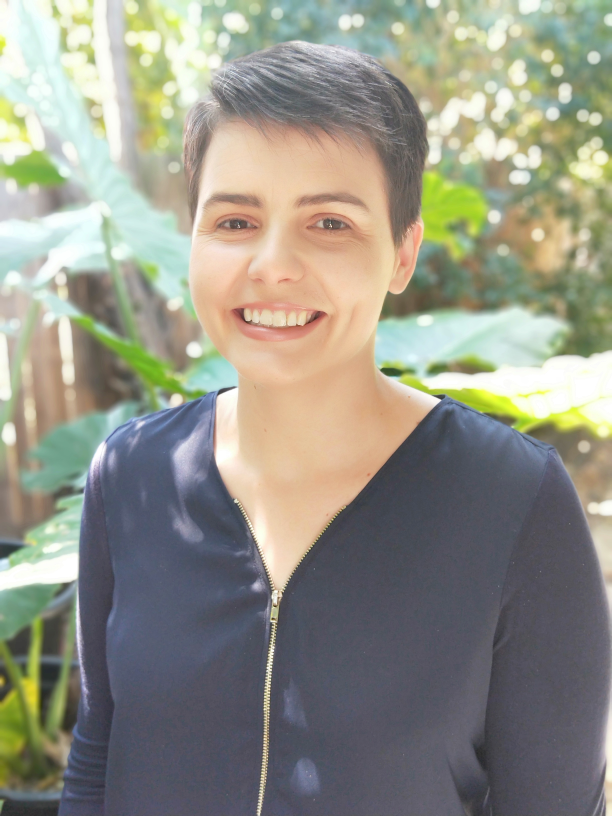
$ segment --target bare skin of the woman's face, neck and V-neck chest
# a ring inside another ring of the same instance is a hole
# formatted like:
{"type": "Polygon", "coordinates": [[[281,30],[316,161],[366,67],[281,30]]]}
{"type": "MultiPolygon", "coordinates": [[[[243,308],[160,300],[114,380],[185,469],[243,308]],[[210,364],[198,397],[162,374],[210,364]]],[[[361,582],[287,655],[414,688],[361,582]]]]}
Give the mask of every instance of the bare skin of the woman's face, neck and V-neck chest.
{"type": "Polygon", "coordinates": [[[408,285],[422,237],[419,219],[394,247],[372,147],[324,133],[318,143],[289,128],[262,135],[242,121],[212,137],[190,288],[203,329],[238,371],[238,388],[217,400],[216,462],[278,588],[330,517],[439,402],[389,379],[374,362],[384,298],[408,285]],[[221,192],[255,196],[261,206],[205,206],[221,192]],[[356,196],[367,209],[296,206],[303,196],[330,192],[356,196]],[[325,315],[302,337],[255,339],[233,312],[255,302],[325,315]]]}

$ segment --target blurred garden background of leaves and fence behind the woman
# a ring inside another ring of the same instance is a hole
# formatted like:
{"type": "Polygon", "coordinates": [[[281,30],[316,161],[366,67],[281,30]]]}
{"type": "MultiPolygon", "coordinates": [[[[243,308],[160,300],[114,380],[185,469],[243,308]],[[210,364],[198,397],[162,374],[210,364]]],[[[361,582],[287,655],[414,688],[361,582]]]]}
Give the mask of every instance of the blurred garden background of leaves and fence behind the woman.
{"type": "Polygon", "coordinates": [[[182,127],[273,43],[413,92],[425,240],[377,364],[554,444],[612,588],[609,0],[0,0],[0,32],[0,797],[61,784],[97,445],[236,382],[189,297],[182,127]]]}

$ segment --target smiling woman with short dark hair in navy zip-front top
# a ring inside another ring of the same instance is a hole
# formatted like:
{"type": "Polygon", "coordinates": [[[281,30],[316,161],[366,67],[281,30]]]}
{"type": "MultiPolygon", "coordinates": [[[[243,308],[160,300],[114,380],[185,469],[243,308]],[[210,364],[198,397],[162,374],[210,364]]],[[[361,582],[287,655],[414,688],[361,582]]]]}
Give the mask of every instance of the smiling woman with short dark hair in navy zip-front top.
{"type": "Polygon", "coordinates": [[[426,123],[284,43],[190,112],[190,284],[237,388],[92,462],[61,816],[604,813],[608,607],[551,445],[374,362],[426,123]]]}

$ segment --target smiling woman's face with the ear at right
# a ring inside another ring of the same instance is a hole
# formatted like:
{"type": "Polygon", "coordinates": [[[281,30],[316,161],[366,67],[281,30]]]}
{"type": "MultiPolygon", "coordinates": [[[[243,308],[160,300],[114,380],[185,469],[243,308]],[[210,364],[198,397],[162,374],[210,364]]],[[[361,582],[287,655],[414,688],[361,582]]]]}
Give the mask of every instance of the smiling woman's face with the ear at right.
{"type": "Polygon", "coordinates": [[[374,149],[320,139],[233,121],[205,156],[191,295],[216,348],[253,382],[316,378],[360,356],[371,366],[385,295],[414,270],[422,222],[394,247],[374,149]]]}

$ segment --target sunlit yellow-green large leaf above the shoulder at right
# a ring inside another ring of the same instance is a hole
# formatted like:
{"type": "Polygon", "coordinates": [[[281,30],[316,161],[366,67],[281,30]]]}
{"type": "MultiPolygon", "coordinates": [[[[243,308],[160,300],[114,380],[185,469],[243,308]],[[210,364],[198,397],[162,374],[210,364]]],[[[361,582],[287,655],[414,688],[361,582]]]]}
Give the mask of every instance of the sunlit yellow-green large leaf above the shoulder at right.
{"type": "Polygon", "coordinates": [[[552,424],[561,431],[587,428],[612,434],[612,351],[551,357],[540,368],[502,366],[478,374],[444,372],[400,381],[430,394],[448,394],[483,413],[514,420],[528,432],[552,424]]]}

